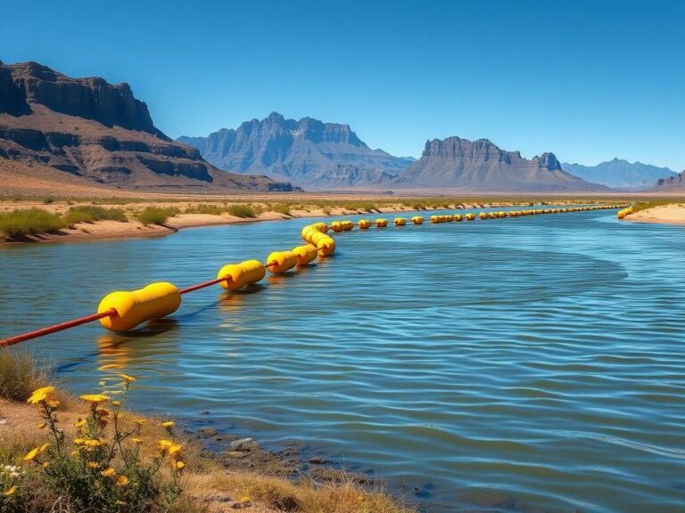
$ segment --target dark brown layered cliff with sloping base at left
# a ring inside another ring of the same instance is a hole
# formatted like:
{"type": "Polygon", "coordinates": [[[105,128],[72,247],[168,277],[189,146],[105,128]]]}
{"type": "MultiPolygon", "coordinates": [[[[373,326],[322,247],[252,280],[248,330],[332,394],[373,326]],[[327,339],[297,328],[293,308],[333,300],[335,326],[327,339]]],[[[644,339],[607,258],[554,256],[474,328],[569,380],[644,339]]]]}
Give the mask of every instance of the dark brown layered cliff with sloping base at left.
{"type": "Polygon", "coordinates": [[[128,84],[70,78],[36,62],[0,62],[1,159],[120,188],[290,189],[212,167],[162,134],[128,84]]]}

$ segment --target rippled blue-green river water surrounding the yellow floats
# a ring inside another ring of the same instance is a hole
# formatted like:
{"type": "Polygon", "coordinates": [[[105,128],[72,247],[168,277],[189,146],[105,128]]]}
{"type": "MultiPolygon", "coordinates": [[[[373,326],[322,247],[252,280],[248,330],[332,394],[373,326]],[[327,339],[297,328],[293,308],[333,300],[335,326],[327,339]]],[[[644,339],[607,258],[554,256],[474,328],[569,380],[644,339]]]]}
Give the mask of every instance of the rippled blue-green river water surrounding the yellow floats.
{"type": "MultiPolygon", "coordinates": [[[[263,260],[311,222],[0,248],[0,336],[263,260]]],[[[137,333],[23,346],[76,392],[133,374],[136,409],[301,440],[431,511],[685,510],[685,229],[599,211],[336,240],[333,258],[189,294],[137,333]]]]}

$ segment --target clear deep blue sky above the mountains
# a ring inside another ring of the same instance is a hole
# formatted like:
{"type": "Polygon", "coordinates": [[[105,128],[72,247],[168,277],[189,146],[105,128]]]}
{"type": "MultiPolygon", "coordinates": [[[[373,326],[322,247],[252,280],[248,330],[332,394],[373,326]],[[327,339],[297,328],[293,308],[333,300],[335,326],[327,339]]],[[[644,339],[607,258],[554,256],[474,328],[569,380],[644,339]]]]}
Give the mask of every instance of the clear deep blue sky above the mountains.
{"type": "Polygon", "coordinates": [[[128,82],[167,134],[276,110],[369,146],[685,168],[685,2],[6,2],[0,60],[128,82]]]}

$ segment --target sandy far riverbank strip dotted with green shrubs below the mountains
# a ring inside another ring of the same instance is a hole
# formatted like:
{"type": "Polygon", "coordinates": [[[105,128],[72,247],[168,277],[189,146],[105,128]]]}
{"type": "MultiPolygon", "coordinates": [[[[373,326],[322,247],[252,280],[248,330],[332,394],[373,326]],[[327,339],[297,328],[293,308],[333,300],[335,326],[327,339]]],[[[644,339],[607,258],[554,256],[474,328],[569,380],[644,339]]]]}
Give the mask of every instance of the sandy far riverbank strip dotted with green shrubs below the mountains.
{"type": "MultiPolygon", "coordinates": [[[[403,211],[436,209],[534,207],[543,205],[580,205],[626,203],[631,197],[316,197],[309,194],[254,196],[250,199],[233,197],[167,197],[163,199],[66,199],[14,198],[0,200],[0,239],[26,240],[42,234],[70,229],[79,237],[98,236],[96,228],[83,224],[101,221],[133,222],[116,230],[118,236],[128,234],[162,234],[163,231],[140,230],[162,226],[177,228],[202,224],[230,223],[237,220],[278,219],[302,216],[349,216],[383,214],[403,211]],[[49,199],[49,202],[45,202],[49,199]],[[112,205],[106,207],[105,205],[112,205]],[[29,208],[26,208],[29,207],[29,208]],[[173,218],[173,219],[171,219],[173,218]],[[223,219],[221,219],[223,218],[223,219]],[[137,223],[136,223],[137,222],[137,223]],[[78,226],[81,224],[81,226],[78,226]]],[[[677,202],[677,199],[654,198],[635,202],[639,209],[677,202]],[[643,207],[644,206],[644,207],[643,207]]],[[[637,211],[637,210],[636,210],[637,211]]],[[[107,233],[100,234],[107,237],[107,233]]],[[[54,238],[53,238],[54,239],[54,238]]]]}

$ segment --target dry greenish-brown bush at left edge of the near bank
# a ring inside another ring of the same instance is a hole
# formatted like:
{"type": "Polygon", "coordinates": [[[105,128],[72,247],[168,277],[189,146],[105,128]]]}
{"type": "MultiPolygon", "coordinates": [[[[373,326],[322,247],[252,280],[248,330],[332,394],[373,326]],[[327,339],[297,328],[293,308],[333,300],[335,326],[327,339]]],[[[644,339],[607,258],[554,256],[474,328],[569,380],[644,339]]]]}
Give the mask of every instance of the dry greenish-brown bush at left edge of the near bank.
{"type": "Polygon", "coordinates": [[[29,353],[0,349],[0,397],[26,401],[36,388],[45,387],[49,371],[40,371],[29,353]]]}

